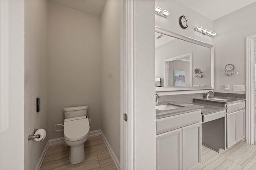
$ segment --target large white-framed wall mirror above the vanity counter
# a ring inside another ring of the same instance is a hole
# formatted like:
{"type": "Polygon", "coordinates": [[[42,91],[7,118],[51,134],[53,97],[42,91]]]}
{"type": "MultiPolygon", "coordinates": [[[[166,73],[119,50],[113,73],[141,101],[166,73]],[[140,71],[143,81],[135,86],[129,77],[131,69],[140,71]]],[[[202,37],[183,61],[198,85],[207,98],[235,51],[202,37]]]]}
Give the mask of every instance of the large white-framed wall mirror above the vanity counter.
{"type": "Polygon", "coordinates": [[[156,92],[213,89],[213,46],[156,27],[156,92]]]}

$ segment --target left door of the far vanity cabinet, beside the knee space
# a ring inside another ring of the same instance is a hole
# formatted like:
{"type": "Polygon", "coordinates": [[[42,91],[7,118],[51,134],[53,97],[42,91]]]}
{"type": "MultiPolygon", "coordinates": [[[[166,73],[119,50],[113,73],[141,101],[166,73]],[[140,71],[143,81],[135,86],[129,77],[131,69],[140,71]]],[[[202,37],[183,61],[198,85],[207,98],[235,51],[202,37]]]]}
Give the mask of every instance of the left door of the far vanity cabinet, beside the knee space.
{"type": "Polygon", "coordinates": [[[236,112],[227,114],[227,148],[236,144],[236,112]]]}

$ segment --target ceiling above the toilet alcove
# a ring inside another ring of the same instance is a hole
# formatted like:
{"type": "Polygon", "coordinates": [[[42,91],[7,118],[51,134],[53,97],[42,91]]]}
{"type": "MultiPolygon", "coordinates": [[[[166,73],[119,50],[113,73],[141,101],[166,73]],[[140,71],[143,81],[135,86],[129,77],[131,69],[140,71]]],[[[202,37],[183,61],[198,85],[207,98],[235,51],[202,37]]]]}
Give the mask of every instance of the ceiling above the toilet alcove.
{"type": "Polygon", "coordinates": [[[104,6],[106,4],[106,0],[49,0],[52,2],[56,2],[57,4],[61,4],[64,6],[68,6],[70,8],[74,8],[76,10],[80,10],[83,12],[88,12],[90,14],[94,14],[100,16],[104,6]]]}

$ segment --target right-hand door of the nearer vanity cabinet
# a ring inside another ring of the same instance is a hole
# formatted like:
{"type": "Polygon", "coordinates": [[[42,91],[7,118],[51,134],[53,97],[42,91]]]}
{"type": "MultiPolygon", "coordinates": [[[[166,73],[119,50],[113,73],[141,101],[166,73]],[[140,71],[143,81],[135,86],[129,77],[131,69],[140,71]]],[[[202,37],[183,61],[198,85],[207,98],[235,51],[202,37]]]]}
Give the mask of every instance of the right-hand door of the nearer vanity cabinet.
{"type": "Polygon", "coordinates": [[[202,123],[182,127],[182,170],[193,169],[201,163],[202,123]]]}

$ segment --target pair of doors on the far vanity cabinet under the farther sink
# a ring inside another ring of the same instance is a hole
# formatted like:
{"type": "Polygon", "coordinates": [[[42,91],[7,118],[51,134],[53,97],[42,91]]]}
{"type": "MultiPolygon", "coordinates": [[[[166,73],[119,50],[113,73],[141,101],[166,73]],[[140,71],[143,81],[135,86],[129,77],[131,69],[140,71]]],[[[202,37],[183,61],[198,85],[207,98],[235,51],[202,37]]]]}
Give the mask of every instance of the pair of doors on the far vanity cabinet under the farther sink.
{"type": "Polygon", "coordinates": [[[245,109],[227,114],[227,148],[246,137],[245,109]]]}

